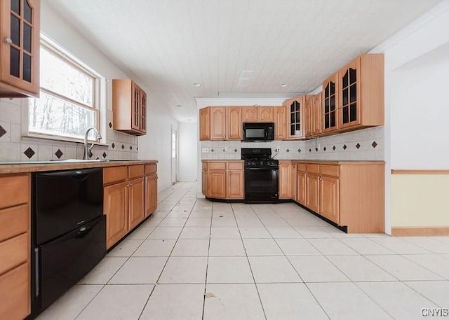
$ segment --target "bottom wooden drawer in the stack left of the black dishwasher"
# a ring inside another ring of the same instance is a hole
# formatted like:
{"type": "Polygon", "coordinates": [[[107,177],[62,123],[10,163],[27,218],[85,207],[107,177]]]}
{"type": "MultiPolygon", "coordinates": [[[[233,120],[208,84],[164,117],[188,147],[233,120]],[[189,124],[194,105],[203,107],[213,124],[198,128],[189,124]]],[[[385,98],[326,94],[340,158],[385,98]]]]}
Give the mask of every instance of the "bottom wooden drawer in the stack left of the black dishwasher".
{"type": "Polygon", "coordinates": [[[29,283],[28,263],[0,276],[0,319],[24,319],[30,313],[29,283]]]}

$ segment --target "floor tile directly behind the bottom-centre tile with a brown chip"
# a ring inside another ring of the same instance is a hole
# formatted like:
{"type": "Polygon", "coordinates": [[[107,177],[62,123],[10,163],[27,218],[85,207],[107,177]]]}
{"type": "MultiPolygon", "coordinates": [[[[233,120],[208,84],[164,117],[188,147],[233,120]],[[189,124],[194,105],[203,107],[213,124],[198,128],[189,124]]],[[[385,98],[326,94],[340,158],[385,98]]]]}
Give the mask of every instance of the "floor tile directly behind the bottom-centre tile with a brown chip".
{"type": "Polygon", "coordinates": [[[246,257],[209,257],[208,283],[253,283],[253,274],[246,257]]]}

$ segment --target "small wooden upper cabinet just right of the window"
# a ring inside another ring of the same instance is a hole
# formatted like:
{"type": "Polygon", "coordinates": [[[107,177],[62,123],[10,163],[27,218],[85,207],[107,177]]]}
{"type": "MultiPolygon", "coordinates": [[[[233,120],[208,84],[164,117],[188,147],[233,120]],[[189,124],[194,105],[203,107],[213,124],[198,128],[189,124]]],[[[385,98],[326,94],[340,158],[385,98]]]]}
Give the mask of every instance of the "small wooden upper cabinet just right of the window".
{"type": "Polygon", "coordinates": [[[135,136],[147,133],[147,93],[130,79],[112,80],[113,129],[135,136]]]}

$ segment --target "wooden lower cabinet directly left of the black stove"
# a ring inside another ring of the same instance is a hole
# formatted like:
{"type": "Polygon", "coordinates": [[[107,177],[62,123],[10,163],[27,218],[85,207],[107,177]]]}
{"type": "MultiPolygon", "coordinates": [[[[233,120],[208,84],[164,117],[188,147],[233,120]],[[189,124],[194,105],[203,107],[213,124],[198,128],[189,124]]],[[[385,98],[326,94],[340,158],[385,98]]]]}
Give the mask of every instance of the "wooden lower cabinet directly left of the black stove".
{"type": "Polygon", "coordinates": [[[212,199],[245,198],[243,161],[203,161],[202,193],[212,199]]]}

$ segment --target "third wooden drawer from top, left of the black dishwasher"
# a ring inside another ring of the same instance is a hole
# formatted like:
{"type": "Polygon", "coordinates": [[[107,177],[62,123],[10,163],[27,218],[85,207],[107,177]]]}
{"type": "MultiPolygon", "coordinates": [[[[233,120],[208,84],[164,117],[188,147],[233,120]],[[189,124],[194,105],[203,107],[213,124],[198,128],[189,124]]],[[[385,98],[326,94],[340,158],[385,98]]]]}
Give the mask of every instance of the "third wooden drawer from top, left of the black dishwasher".
{"type": "Polygon", "coordinates": [[[0,242],[0,274],[28,260],[28,233],[0,242]]]}

